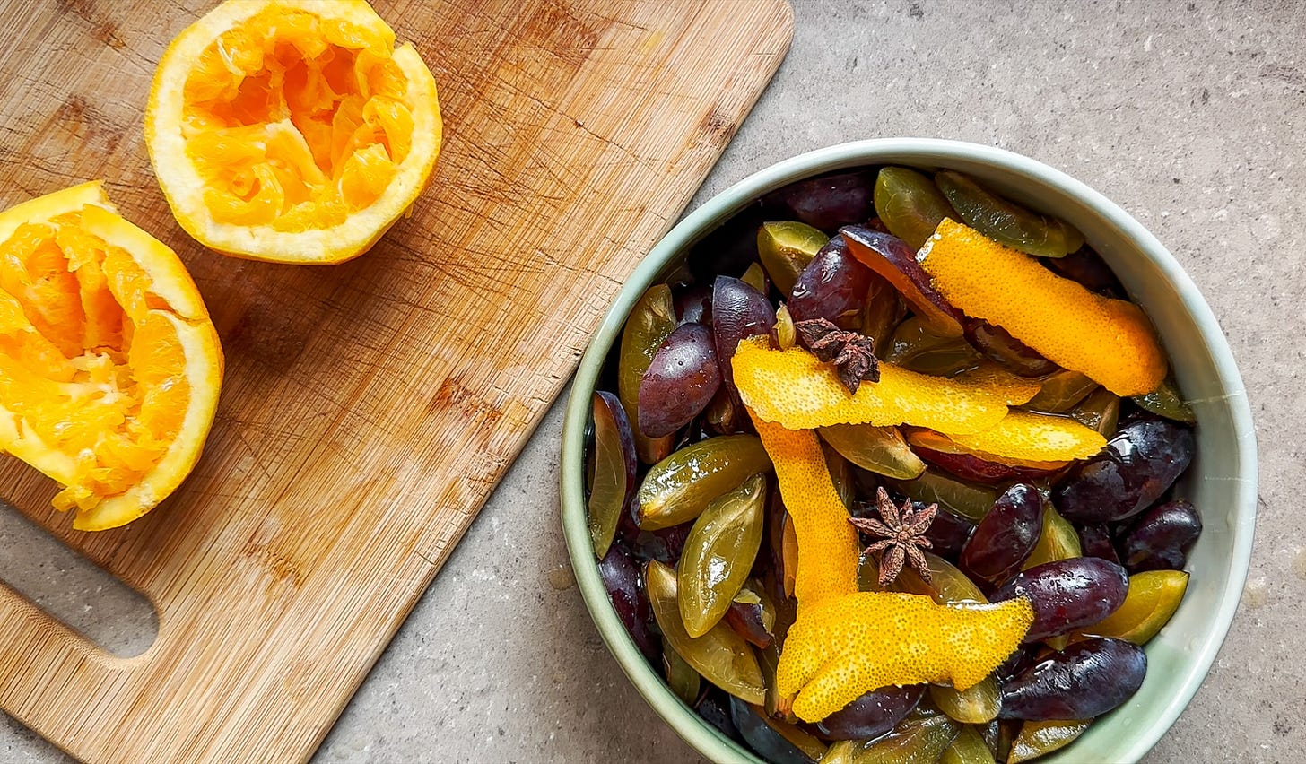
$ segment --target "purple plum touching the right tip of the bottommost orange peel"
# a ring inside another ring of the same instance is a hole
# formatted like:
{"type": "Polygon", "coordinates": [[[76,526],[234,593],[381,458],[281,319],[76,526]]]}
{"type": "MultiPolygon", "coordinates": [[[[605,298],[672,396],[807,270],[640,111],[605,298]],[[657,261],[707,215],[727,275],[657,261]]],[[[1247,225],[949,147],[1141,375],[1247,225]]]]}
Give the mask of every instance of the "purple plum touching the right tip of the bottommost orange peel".
{"type": "Polygon", "coordinates": [[[1121,565],[1098,558],[1074,558],[1029,568],[989,599],[1029,598],[1034,623],[1025,643],[1033,643],[1102,620],[1124,603],[1128,589],[1128,573],[1121,565]]]}

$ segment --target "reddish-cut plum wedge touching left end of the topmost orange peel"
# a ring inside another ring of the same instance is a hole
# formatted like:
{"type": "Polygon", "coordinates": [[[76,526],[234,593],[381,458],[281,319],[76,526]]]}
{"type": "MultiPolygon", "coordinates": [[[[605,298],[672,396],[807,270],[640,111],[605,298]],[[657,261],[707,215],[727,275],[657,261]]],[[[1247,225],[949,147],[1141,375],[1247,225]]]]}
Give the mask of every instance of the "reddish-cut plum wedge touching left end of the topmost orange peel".
{"type": "Polygon", "coordinates": [[[961,336],[961,311],[934,289],[930,276],[916,261],[916,249],[906,242],[865,226],[845,226],[840,234],[853,257],[893,285],[935,334],[961,336]]]}

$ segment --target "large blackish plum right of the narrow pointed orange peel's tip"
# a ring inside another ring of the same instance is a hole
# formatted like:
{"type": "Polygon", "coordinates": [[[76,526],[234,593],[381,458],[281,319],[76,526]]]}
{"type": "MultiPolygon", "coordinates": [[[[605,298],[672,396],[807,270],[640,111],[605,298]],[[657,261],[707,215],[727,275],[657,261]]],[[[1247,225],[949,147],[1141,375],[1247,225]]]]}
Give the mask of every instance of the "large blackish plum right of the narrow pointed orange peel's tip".
{"type": "Polygon", "coordinates": [[[1098,456],[1075,466],[1053,494],[1076,522],[1111,522],[1138,515],[1192,461],[1192,430],[1164,419],[1126,424],[1098,456]]]}

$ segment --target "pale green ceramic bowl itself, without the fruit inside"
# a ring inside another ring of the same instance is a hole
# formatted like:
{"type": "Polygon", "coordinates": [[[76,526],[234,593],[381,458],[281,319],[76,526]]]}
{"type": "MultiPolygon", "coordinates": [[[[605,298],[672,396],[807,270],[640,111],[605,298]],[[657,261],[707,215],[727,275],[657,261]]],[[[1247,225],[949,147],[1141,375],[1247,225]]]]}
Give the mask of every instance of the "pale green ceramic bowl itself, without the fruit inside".
{"type": "Polygon", "coordinates": [[[1019,154],[923,138],[857,141],[786,159],[721,192],[687,215],[627,281],[581,359],[572,387],[562,453],[562,520],[585,605],[616,662],[649,705],[686,742],[714,761],[760,761],[704,724],[667,690],[616,618],[598,577],[585,522],[584,438],[599,368],[620,340],[636,299],[690,247],[764,193],[814,175],[867,165],[966,172],[1017,202],[1072,223],[1115,270],[1156,324],[1179,387],[1198,417],[1198,456],[1182,491],[1202,511],[1204,530],[1188,556],[1187,597],[1147,645],[1148,674],[1123,708],[1045,760],[1136,761],[1174,724],[1202,684],[1233,620],[1251,556],[1256,512],[1256,445],[1251,409],[1229,345],[1198,287],[1165,247],[1101,193],[1019,154]]]}

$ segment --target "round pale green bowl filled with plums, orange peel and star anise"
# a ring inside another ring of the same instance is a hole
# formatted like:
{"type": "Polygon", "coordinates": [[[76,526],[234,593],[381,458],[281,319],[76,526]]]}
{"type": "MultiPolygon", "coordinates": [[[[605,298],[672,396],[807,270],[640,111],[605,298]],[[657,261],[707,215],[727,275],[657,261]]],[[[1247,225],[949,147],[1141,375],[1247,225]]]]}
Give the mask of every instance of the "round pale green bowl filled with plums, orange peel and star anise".
{"type": "Polygon", "coordinates": [[[581,360],[562,520],[712,760],[1135,761],[1251,554],[1251,411],[1191,279],[1083,183],[891,138],[677,225],[581,360]]]}

